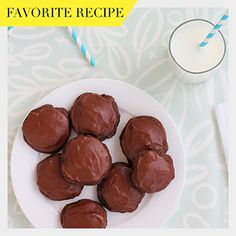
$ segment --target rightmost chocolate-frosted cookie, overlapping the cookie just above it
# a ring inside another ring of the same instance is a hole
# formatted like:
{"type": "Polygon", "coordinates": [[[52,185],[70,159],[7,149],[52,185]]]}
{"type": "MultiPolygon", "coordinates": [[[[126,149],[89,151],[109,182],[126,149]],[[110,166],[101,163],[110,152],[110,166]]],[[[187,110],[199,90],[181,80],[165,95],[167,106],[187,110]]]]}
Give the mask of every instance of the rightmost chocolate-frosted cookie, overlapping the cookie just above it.
{"type": "Polygon", "coordinates": [[[144,151],[134,162],[132,181],[143,192],[159,192],[166,188],[174,177],[173,161],[164,153],[144,151]]]}

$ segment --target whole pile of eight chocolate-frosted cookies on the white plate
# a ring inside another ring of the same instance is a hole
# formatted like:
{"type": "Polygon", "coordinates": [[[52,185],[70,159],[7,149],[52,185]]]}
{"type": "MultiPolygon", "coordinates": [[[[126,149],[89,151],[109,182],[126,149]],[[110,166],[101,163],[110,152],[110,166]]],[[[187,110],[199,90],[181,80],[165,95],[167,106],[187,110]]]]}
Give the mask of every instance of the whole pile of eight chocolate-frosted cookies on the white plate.
{"type": "Polygon", "coordinates": [[[115,135],[119,121],[114,98],[95,93],[80,95],[69,112],[46,104],[26,117],[22,127],[25,142],[50,154],[36,168],[42,194],[60,201],[79,196],[86,185],[97,185],[100,202],[81,199],[67,204],[60,214],[62,227],[105,228],[104,208],[133,212],[145,193],[163,190],[174,178],[165,129],[151,116],[128,121],[120,135],[127,163],[112,163],[102,141],[115,135]],[[77,134],[74,138],[70,138],[72,128],[77,134]]]}

